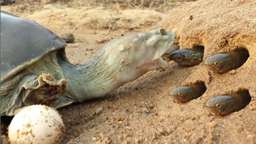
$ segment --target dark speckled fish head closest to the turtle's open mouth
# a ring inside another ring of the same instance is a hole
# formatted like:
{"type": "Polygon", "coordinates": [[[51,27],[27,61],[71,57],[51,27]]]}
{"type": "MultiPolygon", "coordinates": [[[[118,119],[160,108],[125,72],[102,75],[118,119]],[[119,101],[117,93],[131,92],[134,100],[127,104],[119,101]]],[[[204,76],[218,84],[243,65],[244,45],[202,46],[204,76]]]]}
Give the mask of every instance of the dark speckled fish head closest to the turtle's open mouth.
{"type": "Polygon", "coordinates": [[[182,66],[196,66],[203,61],[204,52],[193,49],[180,49],[170,54],[170,59],[182,66]]]}

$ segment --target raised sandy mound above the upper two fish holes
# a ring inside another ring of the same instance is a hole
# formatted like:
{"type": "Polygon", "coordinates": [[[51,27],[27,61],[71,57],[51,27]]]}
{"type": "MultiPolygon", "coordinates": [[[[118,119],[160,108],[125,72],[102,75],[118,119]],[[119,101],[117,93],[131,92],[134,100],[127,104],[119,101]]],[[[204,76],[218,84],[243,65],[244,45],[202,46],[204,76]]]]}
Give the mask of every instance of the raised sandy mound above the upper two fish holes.
{"type": "Polygon", "coordinates": [[[245,47],[254,55],[255,1],[197,1],[170,11],[159,26],[174,30],[181,47],[205,46],[205,54],[245,47]]]}

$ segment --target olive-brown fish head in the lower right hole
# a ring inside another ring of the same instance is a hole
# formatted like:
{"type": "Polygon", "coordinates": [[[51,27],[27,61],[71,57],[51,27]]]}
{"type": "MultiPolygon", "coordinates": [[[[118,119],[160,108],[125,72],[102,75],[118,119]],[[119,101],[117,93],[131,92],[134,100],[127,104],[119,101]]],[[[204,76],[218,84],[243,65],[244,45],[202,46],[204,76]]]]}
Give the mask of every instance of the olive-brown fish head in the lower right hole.
{"type": "Polygon", "coordinates": [[[206,101],[205,106],[213,113],[228,115],[245,108],[251,101],[249,91],[240,90],[236,93],[221,94],[206,101]]]}

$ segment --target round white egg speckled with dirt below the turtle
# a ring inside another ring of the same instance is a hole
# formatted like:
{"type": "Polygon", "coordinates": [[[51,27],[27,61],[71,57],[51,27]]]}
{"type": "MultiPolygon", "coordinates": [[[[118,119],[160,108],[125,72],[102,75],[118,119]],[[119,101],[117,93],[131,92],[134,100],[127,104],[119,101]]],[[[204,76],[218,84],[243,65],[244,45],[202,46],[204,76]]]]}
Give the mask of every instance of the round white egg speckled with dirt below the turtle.
{"type": "Polygon", "coordinates": [[[65,126],[54,108],[32,105],[21,108],[12,119],[8,137],[11,143],[61,143],[65,126]]]}

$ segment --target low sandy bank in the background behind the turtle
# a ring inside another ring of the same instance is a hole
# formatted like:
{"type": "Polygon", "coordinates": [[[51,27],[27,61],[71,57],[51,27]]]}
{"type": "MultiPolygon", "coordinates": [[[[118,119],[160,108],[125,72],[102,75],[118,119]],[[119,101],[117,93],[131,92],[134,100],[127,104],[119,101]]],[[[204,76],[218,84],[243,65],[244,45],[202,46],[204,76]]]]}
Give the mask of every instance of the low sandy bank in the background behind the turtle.
{"type": "Polygon", "coordinates": [[[19,17],[34,20],[50,30],[58,33],[69,29],[84,31],[88,29],[140,29],[156,25],[163,17],[163,13],[150,10],[121,10],[115,11],[105,7],[62,5],[30,5],[33,12],[26,8],[26,4],[15,7],[4,7],[4,11],[17,13],[19,17]],[[22,7],[22,9],[21,9],[22,7]],[[36,8],[35,8],[36,7],[36,8]],[[19,12],[22,13],[19,13],[19,12]],[[29,14],[28,14],[29,13],[29,14]]]}

